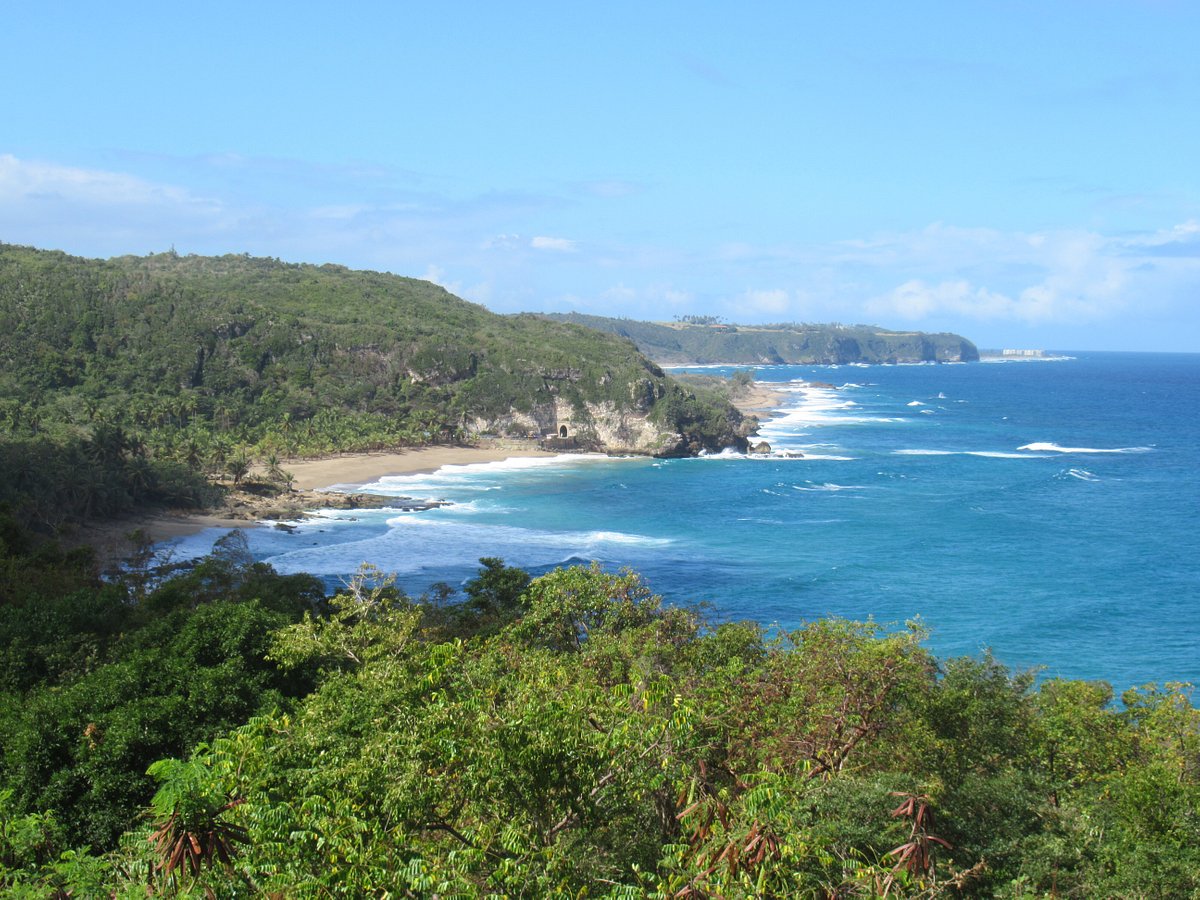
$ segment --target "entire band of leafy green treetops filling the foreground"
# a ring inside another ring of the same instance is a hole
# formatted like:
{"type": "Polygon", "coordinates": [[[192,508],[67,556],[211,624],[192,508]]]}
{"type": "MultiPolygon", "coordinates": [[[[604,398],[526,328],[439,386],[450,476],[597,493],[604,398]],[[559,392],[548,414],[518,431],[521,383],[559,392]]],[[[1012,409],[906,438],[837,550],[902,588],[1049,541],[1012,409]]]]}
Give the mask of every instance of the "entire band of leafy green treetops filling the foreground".
{"type": "Polygon", "coordinates": [[[101,583],[0,536],[6,895],[1200,895],[1184,685],[712,626],[595,568],[323,598],[236,538],[101,583]]]}

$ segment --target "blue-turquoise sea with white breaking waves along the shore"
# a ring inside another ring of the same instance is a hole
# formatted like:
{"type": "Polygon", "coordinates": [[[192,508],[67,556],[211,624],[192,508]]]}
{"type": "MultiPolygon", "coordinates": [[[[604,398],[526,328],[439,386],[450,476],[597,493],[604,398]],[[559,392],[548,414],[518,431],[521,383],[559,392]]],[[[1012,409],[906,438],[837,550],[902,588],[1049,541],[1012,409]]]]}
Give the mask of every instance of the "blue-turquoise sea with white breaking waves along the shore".
{"type": "Polygon", "coordinates": [[[370,562],[420,593],[484,556],[598,559],[718,619],[919,617],[942,656],[991,648],[1118,691],[1200,683],[1200,354],[1062,356],[762,367],[786,391],[761,431],[772,457],[448,467],[370,486],[446,508],[247,536],[330,581],[370,562]]]}

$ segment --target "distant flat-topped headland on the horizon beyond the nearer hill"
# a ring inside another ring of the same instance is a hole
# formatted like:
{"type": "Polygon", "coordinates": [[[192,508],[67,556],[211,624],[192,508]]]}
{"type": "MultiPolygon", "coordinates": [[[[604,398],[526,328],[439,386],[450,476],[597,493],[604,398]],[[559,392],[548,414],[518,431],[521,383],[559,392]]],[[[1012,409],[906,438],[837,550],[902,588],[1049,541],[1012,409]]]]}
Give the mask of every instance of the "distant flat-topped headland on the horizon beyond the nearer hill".
{"type": "Polygon", "coordinates": [[[582,313],[551,313],[630,338],[662,365],[696,364],[838,364],[973,362],[976,346],[961,335],[888,331],[874,325],[732,325],[712,317],[683,322],[636,322],[582,313]]]}

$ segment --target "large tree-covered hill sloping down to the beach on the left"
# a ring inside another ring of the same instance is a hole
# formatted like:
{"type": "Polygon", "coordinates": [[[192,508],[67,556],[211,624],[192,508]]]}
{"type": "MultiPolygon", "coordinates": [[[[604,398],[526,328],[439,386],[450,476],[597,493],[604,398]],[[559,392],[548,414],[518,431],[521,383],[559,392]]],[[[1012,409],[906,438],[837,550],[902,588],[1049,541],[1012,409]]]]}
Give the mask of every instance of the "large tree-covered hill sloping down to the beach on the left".
{"type": "Polygon", "coordinates": [[[629,341],[428,282],[0,245],[0,504],[30,521],[202,504],[251,458],[527,434],[559,404],[584,438],[596,408],[647,416],[665,455],[743,439],[629,341]]]}

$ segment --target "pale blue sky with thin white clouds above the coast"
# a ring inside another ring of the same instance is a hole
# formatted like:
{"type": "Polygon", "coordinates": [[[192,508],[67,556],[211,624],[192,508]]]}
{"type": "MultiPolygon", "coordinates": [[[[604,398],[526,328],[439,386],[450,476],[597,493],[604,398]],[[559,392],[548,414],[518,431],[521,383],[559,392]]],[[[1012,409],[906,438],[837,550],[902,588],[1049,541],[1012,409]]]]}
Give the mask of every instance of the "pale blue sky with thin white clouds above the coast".
{"type": "Polygon", "coordinates": [[[1200,4],[19,2],[0,241],[1200,352],[1200,4]]]}

